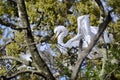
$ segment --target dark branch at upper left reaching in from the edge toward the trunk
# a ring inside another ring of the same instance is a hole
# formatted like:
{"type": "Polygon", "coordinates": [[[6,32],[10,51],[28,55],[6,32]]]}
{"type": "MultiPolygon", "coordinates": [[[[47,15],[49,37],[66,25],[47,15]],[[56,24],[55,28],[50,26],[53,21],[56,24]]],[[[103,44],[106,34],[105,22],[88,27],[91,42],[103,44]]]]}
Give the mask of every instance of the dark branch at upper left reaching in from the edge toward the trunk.
{"type": "Polygon", "coordinates": [[[0,18],[0,24],[4,25],[6,27],[10,27],[11,29],[14,29],[14,30],[22,31],[22,30],[26,29],[26,28],[17,28],[17,26],[15,24],[9,23],[7,21],[3,21],[1,18],[0,18]]]}

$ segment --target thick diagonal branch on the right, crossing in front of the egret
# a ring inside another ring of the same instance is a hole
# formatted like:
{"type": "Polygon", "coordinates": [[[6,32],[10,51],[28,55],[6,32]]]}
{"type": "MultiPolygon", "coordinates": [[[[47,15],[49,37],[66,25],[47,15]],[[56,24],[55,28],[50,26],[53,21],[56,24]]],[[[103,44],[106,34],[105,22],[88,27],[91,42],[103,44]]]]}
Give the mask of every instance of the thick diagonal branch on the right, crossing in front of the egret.
{"type": "Polygon", "coordinates": [[[99,25],[99,30],[98,30],[98,33],[95,35],[95,37],[91,40],[91,43],[89,44],[88,48],[86,48],[84,51],[81,51],[79,49],[78,51],[78,54],[79,54],[79,57],[77,59],[77,62],[73,68],[73,72],[72,72],[72,76],[71,76],[71,80],[76,80],[77,79],[77,76],[78,76],[78,72],[79,72],[79,69],[84,61],[84,59],[87,57],[87,55],[90,53],[90,51],[92,50],[92,48],[95,46],[96,42],[98,41],[98,39],[100,38],[100,36],[102,35],[103,31],[106,29],[107,25],[110,23],[110,21],[112,20],[112,17],[111,17],[111,12],[112,11],[109,11],[108,12],[108,15],[107,17],[105,18],[104,22],[102,22],[100,25],[99,25]]]}

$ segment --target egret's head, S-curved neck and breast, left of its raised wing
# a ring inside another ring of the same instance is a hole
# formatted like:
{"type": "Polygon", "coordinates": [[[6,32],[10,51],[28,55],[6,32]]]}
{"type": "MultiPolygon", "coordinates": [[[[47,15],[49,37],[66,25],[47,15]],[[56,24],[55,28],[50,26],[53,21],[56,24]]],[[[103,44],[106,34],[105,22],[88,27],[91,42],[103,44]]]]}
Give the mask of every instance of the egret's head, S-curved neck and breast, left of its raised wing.
{"type": "Polygon", "coordinates": [[[82,38],[80,34],[77,34],[75,37],[64,43],[63,38],[68,35],[68,30],[62,25],[57,26],[54,29],[54,33],[56,34],[56,37],[58,37],[57,43],[59,44],[59,49],[61,53],[64,54],[67,53],[67,48],[78,47],[80,38],[82,38]]]}

